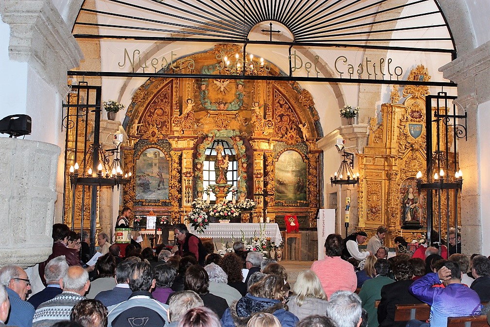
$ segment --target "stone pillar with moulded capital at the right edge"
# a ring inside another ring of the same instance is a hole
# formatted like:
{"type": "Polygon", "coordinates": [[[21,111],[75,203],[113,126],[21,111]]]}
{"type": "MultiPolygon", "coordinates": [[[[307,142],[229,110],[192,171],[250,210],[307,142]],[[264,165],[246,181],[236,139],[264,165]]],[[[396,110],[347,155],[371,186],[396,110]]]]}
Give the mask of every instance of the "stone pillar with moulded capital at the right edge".
{"type": "Polygon", "coordinates": [[[490,191],[485,178],[490,170],[490,42],[460,54],[456,60],[440,68],[444,78],[458,83],[458,104],[467,118],[467,141],[460,140],[459,164],[463,171],[461,192],[461,241],[463,253],[490,252],[483,242],[490,227],[490,191]]]}

